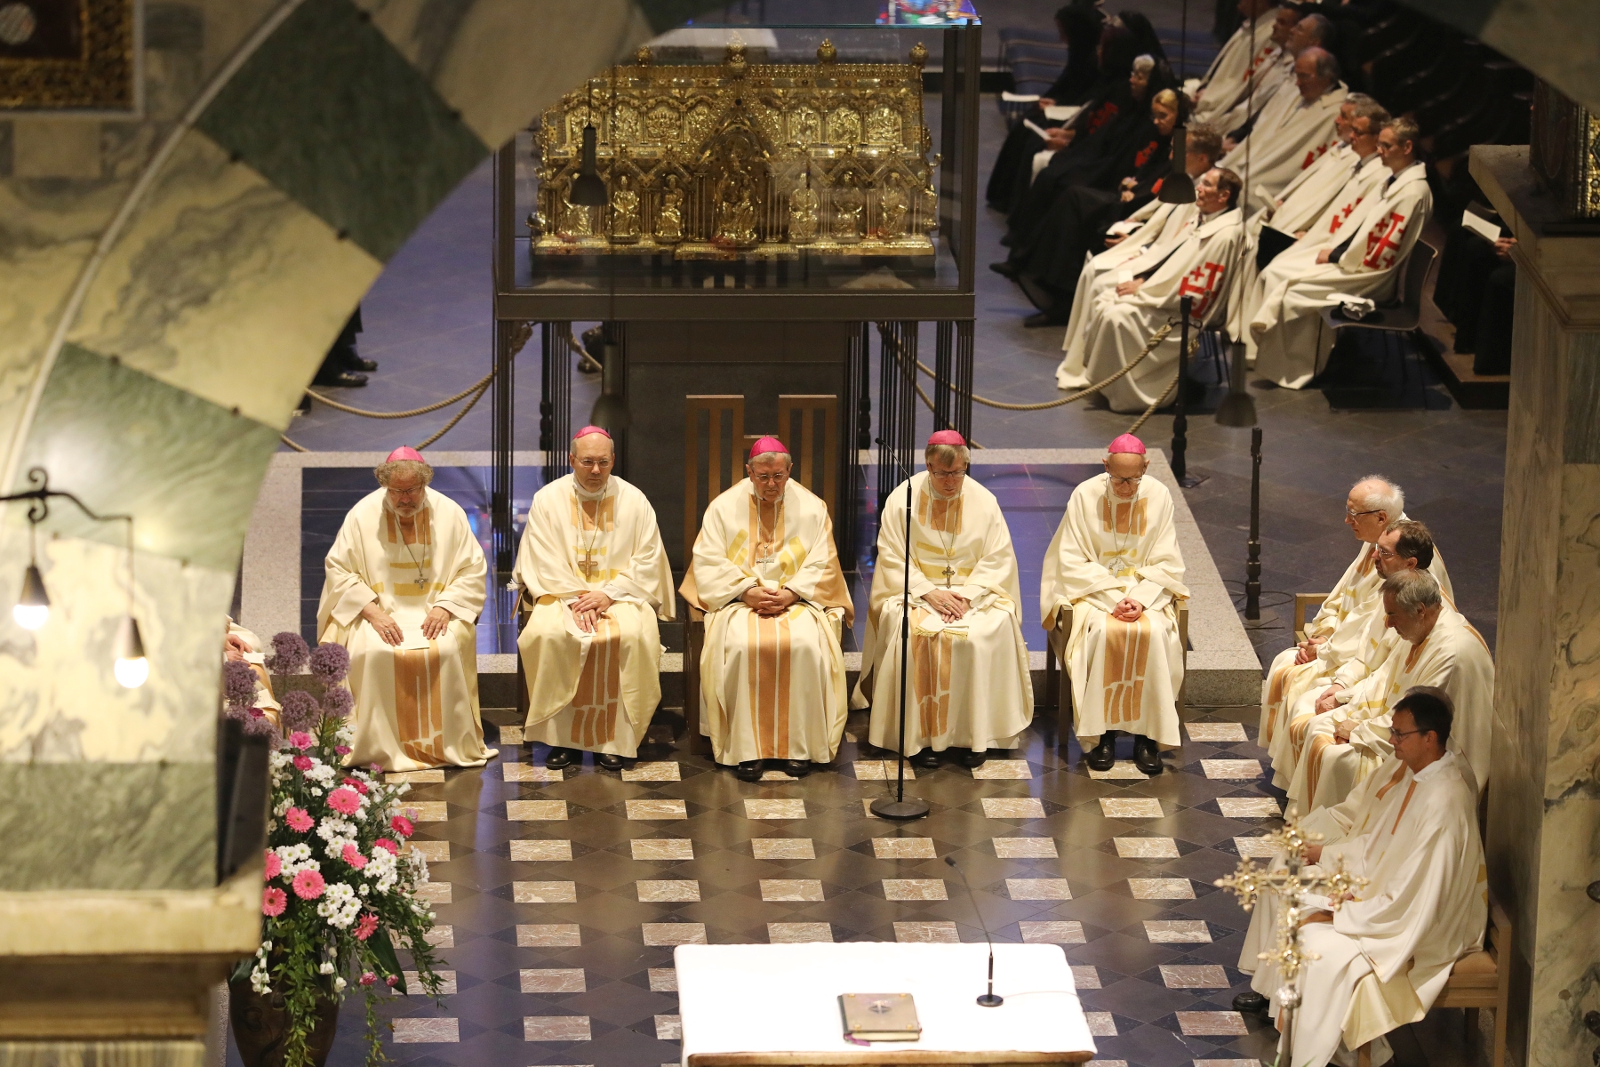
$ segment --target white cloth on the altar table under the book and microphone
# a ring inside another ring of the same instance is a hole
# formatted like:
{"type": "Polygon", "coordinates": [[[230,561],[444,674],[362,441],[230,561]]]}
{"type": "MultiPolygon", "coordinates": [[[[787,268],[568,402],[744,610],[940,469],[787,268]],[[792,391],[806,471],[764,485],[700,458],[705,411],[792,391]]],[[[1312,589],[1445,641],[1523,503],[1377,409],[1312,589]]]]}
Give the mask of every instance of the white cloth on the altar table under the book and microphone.
{"type": "Polygon", "coordinates": [[[842,1053],[853,1062],[882,1053],[1094,1054],[1059,945],[995,945],[998,1008],[974,1001],[989,968],[982,944],[678,945],[674,961],[685,1067],[691,1056],[728,1053],[842,1053]],[[910,993],[922,1040],[846,1041],[840,993],[910,993]]]}

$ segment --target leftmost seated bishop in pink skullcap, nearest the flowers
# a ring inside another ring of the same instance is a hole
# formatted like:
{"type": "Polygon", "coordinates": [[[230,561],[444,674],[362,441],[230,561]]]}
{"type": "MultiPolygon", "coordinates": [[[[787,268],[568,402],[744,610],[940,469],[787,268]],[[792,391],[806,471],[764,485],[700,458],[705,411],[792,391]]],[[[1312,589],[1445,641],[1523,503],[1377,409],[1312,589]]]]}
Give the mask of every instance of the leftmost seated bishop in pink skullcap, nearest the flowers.
{"type": "Polygon", "coordinates": [[[482,766],[477,617],[483,549],[467,514],[429,488],[434,469],[397,448],[373,472],[328,552],[317,635],[350,653],[350,765],[482,766]]]}

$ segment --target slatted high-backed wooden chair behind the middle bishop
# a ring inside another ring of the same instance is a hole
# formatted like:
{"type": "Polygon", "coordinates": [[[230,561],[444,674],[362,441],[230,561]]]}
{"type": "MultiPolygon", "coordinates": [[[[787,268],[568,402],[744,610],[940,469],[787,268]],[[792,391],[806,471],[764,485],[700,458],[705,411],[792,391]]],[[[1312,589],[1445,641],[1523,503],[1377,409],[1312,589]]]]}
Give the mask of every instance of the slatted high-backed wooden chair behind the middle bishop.
{"type": "MultiPolygon", "coordinates": [[[[744,432],[742,394],[683,400],[683,568],[686,571],[694,557],[694,537],[699,534],[706,507],[744,478],[744,461],[750,445],[762,435],[744,432]],[[704,422],[701,413],[706,413],[704,422]],[[723,427],[725,413],[726,427],[723,427]],[[701,434],[706,435],[704,448],[701,434]],[[728,442],[726,451],[723,442],[728,442]]],[[[795,480],[822,498],[832,517],[838,498],[838,397],[779,395],[776,437],[790,450],[795,480]]],[[[701,733],[699,720],[699,661],[706,648],[706,613],[693,605],[685,606],[683,725],[690,752],[710,755],[710,739],[701,733]]]]}

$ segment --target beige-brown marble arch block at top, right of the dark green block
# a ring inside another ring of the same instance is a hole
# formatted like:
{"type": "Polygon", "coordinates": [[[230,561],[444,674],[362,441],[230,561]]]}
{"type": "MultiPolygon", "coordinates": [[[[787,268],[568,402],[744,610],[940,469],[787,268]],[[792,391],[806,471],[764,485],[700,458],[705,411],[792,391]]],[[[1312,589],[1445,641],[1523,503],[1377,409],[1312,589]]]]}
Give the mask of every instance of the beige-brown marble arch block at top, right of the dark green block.
{"type": "Polygon", "coordinates": [[[491,146],[509,141],[539,107],[589,75],[629,59],[654,32],[632,0],[355,2],[491,146]],[[558,46],[546,50],[546,42],[558,46]],[[485,78],[485,69],[496,77],[485,78]]]}

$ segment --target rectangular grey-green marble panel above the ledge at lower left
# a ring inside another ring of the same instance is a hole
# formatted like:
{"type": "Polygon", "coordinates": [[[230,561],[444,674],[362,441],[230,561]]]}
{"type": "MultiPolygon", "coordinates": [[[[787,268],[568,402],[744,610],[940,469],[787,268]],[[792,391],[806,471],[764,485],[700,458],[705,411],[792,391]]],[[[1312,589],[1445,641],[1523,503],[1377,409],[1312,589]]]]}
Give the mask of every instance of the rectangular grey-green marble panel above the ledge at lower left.
{"type": "Polygon", "coordinates": [[[211,763],[0,763],[0,891],[216,883],[211,763]]]}

